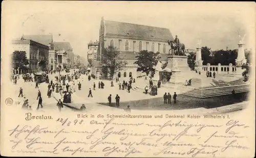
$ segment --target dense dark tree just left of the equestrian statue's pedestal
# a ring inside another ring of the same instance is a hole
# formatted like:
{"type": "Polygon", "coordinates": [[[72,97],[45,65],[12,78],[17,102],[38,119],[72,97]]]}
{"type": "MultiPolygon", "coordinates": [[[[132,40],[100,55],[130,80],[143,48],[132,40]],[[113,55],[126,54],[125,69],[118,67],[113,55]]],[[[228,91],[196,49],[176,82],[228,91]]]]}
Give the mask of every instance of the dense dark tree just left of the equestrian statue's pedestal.
{"type": "Polygon", "coordinates": [[[159,52],[148,52],[146,50],[140,51],[139,55],[136,56],[137,61],[135,61],[135,64],[138,64],[137,71],[142,71],[143,73],[146,73],[148,75],[150,72],[155,72],[155,69],[153,68],[154,65],[157,64],[158,59],[161,57],[159,56],[159,52]]]}

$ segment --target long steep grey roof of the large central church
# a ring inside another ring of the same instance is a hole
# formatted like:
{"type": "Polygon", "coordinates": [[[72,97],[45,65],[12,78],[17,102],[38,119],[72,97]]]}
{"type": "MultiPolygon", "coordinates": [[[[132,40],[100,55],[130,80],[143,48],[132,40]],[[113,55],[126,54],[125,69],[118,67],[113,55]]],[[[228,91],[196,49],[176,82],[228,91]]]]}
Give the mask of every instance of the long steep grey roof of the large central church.
{"type": "Polygon", "coordinates": [[[169,29],[105,20],[106,36],[120,36],[131,39],[162,41],[174,40],[169,29]]]}

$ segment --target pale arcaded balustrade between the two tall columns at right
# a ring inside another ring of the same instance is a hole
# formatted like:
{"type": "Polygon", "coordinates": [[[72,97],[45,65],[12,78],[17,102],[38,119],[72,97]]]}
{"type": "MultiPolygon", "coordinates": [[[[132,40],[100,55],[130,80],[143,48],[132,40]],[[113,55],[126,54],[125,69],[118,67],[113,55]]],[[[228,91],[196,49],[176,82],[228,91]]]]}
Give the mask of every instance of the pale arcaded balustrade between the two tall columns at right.
{"type": "Polygon", "coordinates": [[[207,63],[207,65],[203,65],[202,69],[199,71],[216,72],[217,74],[235,74],[237,71],[236,67],[237,66],[234,66],[231,63],[229,65],[221,65],[220,63],[218,65],[210,65],[209,63],[207,63]]]}

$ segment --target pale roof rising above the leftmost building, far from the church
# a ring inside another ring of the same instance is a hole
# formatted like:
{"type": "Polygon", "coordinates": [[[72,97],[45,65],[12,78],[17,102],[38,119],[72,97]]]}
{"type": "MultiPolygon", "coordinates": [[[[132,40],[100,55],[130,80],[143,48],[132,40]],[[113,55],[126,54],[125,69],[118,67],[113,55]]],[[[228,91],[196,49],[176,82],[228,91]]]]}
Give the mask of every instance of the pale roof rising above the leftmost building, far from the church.
{"type": "Polygon", "coordinates": [[[31,39],[46,46],[53,42],[52,35],[24,35],[23,38],[31,39]]]}

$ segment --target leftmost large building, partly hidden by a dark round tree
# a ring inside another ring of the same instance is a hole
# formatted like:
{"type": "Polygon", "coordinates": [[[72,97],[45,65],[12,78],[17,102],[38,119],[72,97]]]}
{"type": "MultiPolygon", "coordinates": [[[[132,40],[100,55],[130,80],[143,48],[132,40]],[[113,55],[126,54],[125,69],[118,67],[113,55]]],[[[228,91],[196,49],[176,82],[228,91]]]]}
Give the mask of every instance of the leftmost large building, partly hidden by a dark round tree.
{"type": "Polygon", "coordinates": [[[30,39],[12,40],[14,51],[25,51],[29,60],[29,69],[33,71],[45,71],[48,69],[49,47],[30,39]]]}

